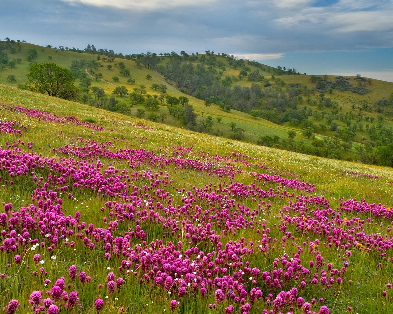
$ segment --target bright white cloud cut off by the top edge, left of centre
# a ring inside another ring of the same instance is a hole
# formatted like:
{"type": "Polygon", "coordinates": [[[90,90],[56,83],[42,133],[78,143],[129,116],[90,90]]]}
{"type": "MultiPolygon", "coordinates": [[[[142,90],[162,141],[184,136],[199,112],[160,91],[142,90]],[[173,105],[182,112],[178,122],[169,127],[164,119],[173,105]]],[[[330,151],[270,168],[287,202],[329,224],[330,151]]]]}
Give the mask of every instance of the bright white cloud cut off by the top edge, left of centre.
{"type": "Polygon", "coordinates": [[[140,11],[156,11],[158,9],[169,9],[174,7],[193,7],[203,4],[211,4],[215,0],[62,0],[69,4],[85,4],[93,5],[96,7],[115,7],[118,9],[133,9],[140,11]]]}

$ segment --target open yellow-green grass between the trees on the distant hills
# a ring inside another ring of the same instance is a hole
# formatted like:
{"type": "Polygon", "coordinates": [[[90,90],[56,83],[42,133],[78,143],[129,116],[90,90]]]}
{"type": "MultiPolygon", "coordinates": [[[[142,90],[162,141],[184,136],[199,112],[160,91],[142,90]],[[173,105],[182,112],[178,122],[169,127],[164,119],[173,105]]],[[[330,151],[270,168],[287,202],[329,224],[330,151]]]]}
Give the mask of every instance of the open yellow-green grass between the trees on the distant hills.
{"type": "MultiPolygon", "coordinates": [[[[35,46],[27,43],[20,43],[20,50],[16,49],[16,52],[11,54],[8,52],[9,60],[17,60],[20,58],[22,61],[20,63],[16,63],[15,68],[6,67],[0,71],[0,83],[8,84],[10,86],[18,86],[18,84],[24,84],[26,82],[26,73],[29,71],[29,62],[26,60],[28,50],[29,49],[36,49],[37,57],[33,60],[34,62],[55,62],[62,67],[69,68],[71,62],[73,60],[97,60],[97,55],[94,54],[86,54],[86,53],[76,53],[73,51],[62,51],[59,49],[52,49],[46,47],[35,46]],[[14,75],[16,81],[15,82],[8,82],[7,77],[8,75],[14,75]]],[[[201,55],[199,55],[200,57],[201,55]]],[[[144,85],[147,90],[147,94],[149,95],[157,95],[159,91],[156,91],[151,88],[153,83],[164,84],[167,86],[167,94],[172,96],[184,96],[185,94],[182,93],[176,86],[170,85],[165,81],[164,77],[151,69],[147,69],[144,66],[138,68],[136,62],[133,60],[126,60],[126,59],[115,59],[112,62],[104,61],[102,58],[105,56],[99,56],[101,60],[101,67],[95,70],[96,73],[101,73],[102,77],[99,80],[92,81],[92,87],[97,86],[101,87],[105,90],[107,97],[112,96],[112,91],[116,86],[125,86],[129,91],[132,91],[133,88],[139,87],[140,85],[144,85]],[[124,62],[126,69],[130,71],[130,77],[135,79],[134,84],[128,84],[127,79],[129,77],[125,77],[119,74],[119,66],[117,62],[124,62]],[[111,65],[112,68],[108,69],[108,65],[111,65]],[[151,75],[151,79],[147,79],[146,75],[151,75]],[[117,76],[119,78],[118,82],[115,82],[112,77],[117,76]]],[[[219,61],[224,64],[226,70],[223,71],[221,78],[225,76],[232,76],[237,77],[239,74],[240,69],[233,69],[230,67],[227,58],[215,56],[219,61]]],[[[168,57],[159,57],[158,58],[158,65],[165,65],[168,61],[168,57]]],[[[196,66],[197,62],[193,62],[193,66],[196,66]]],[[[272,84],[270,88],[277,88],[284,92],[287,92],[288,84],[290,83],[300,83],[306,85],[307,88],[310,90],[315,85],[310,81],[309,75],[275,75],[277,78],[283,80],[286,83],[285,87],[279,87],[276,85],[276,81],[271,79],[271,75],[276,73],[277,69],[270,68],[268,66],[264,66],[265,71],[260,68],[257,68],[252,65],[246,64],[250,68],[250,72],[259,70],[265,78],[270,79],[270,83],[272,84]]],[[[277,73],[276,73],[277,74],[277,73]]],[[[334,76],[329,77],[329,80],[334,80],[334,76]]],[[[353,78],[351,78],[353,79],[353,78]]],[[[79,80],[77,80],[79,83],[79,80]]],[[[234,81],[232,86],[239,85],[239,86],[251,86],[253,82],[248,81],[246,78],[241,80],[234,81]]],[[[356,85],[356,82],[353,82],[356,85]]],[[[368,83],[367,83],[368,84],[368,83]]],[[[393,83],[379,81],[379,80],[372,80],[370,85],[366,86],[367,88],[371,89],[371,93],[367,95],[358,95],[351,91],[337,91],[333,90],[332,93],[326,93],[326,97],[331,98],[331,100],[336,100],[338,102],[340,111],[339,113],[345,114],[349,111],[354,111],[352,106],[355,105],[356,108],[361,106],[363,102],[367,102],[370,106],[373,106],[378,99],[388,99],[389,95],[391,94],[393,83]]],[[[94,97],[92,92],[89,93],[91,96],[94,97]]],[[[316,92],[311,95],[312,100],[319,99],[319,93],[316,92]]],[[[268,120],[261,119],[257,117],[256,119],[253,118],[250,114],[244,113],[241,111],[231,110],[230,112],[226,112],[221,110],[217,105],[211,105],[206,107],[204,104],[204,100],[197,99],[195,97],[191,97],[186,95],[189,98],[189,103],[193,106],[195,112],[199,115],[199,119],[203,119],[204,117],[211,116],[213,119],[217,117],[221,117],[221,123],[218,123],[216,120],[212,127],[212,133],[216,135],[220,135],[223,137],[230,137],[233,133],[231,131],[231,123],[235,123],[237,127],[242,128],[244,130],[244,137],[243,140],[247,142],[256,143],[259,137],[264,135],[276,135],[280,139],[288,139],[288,131],[294,130],[296,131],[296,137],[294,141],[296,143],[305,142],[306,144],[311,143],[311,139],[302,135],[301,125],[292,125],[290,122],[285,122],[282,124],[275,124],[268,120]]],[[[118,95],[115,98],[119,101],[129,102],[129,98],[119,97],[118,95]]],[[[154,113],[160,115],[161,113],[165,113],[167,115],[167,119],[165,120],[165,124],[169,124],[176,127],[185,127],[181,121],[177,118],[172,117],[169,115],[167,110],[167,105],[165,101],[162,103],[158,110],[155,110],[154,113]]],[[[181,106],[180,106],[181,107],[181,106]]],[[[308,104],[306,102],[306,97],[303,95],[303,100],[301,103],[298,104],[298,107],[305,107],[311,108],[313,111],[329,113],[331,108],[321,108],[318,109],[316,105],[308,104]]],[[[136,115],[138,109],[145,110],[144,104],[137,104],[136,106],[132,106],[130,110],[131,115],[136,115]]],[[[358,109],[356,109],[357,111],[358,109]]],[[[144,115],[145,119],[148,114],[151,112],[150,110],[145,110],[146,113],[144,115]]],[[[364,111],[364,115],[367,115],[375,121],[377,120],[377,116],[379,113],[375,111],[364,111]]],[[[309,117],[309,121],[314,123],[317,126],[315,131],[315,136],[317,139],[323,139],[324,137],[333,136],[335,133],[334,131],[330,130],[330,126],[326,125],[325,130],[321,129],[318,125],[323,124],[323,119],[316,119],[314,117],[309,117]]],[[[343,120],[335,120],[339,128],[344,128],[346,126],[343,120]]],[[[366,124],[366,122],[363,122],[366,124]]],[[[391,128],[393,127],[393,118],[388,113],[384,113],[384,127],[391,128]]],[[[354,137],[354,145],[352,148],[347,151],[343,152],[343,155],[346,155],[349,159],[355,159],[353,156],[356,154],[357,148],[361,146],[363,143],[363,139],[368,138],[367,131],[364,129],[356,130],[356,136],[354,137]]],[[[343,156],[342,156],[343,157],[343,156]]]]}

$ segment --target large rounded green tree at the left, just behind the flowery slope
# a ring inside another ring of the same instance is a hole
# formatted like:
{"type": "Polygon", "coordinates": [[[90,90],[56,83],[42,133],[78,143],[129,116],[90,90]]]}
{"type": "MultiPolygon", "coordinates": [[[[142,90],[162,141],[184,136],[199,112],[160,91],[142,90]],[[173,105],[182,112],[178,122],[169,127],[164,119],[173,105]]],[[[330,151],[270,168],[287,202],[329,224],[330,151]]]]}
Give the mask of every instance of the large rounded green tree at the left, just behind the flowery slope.
{"type": "Polygon", "coordinates": [[[33,63],[27,75],[26,87],[49,96],[62,99],[77,99],[75,78],[68,69],[54,63],[33,63]]]}

